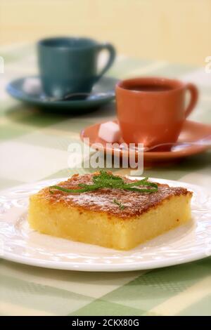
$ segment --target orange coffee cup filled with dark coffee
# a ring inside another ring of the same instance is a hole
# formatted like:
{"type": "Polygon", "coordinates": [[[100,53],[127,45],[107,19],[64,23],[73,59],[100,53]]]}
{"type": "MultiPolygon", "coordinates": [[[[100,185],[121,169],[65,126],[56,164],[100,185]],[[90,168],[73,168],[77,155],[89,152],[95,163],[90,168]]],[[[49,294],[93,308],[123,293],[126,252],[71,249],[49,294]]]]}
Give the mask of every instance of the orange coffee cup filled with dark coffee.
{"type": "Polygon", "coordinates": [[[143,143],[146,147],[176,142],[198,100],[195,85],[160,77],[122,80],[115,92],[124,142],[143,143]],[[191,99],[186,107],[187,91],[191,99]]]}

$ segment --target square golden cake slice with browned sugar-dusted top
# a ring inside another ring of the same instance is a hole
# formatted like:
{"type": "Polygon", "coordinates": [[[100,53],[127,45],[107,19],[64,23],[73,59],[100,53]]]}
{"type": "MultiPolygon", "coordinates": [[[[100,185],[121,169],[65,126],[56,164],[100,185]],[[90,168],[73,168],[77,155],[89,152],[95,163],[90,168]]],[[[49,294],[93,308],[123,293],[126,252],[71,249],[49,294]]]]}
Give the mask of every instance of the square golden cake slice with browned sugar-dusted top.
{"type": "Polygon", "coordinates": [[[129,250],[191,219],[192,192],[185,188],[149,186],[147,180],[140,185],[104,172],[112,177],[112,183],[107,180],[106,187],[86,191],[87,185],[95,187],[94,180],[98,182],[102,173],[74,175],[32,195],[30,226],[56,237],[129,250]],[[125,189],[117,187],[122,181],[125,189]]]}

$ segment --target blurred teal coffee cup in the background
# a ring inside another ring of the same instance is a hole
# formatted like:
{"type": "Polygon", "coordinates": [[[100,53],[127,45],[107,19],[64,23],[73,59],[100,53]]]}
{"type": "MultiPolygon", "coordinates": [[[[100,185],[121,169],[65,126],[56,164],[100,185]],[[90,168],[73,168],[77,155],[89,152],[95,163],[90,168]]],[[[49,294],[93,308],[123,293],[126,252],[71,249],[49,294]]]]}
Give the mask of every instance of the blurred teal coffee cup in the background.
{"type": "Polygon", "coordinates": [[[70,93],[90,93],[93,85],[115,60],[111,44],[89,38],[55,37],[38,42],[38,62],[44,93],[63,98],[70,93]],[[98,72],[98,55],[108,51],[108,61],[98,72]]]}

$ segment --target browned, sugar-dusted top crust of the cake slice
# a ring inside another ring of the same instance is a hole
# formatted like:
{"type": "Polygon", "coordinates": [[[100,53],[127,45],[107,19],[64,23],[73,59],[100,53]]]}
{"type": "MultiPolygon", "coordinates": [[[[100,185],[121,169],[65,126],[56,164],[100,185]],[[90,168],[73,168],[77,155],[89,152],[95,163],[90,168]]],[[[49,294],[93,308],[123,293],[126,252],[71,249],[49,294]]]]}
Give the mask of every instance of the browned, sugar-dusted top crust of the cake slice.
{"type": "MultiPolygon", "coordinates": [[[[85,174],[84,176],[75,174],[72,178],[58,183],[58,185],[66,189],[74,189],[78,187],[79,183],[92,183],[92,176],[93,174],[85,174]]],[[[128,183],[134,182],[128,178],[124,178],[124,180],[128,183]]],[[[164,199],[168,199],[172,196],[191,195],[192,192],[188,192],[186,188],[170,187],[169,185],[158,183],[158,192],[153,192],[151,194],[110,188],[78,194],[53,190],[53,194],[51,194],[51,192],[49,192],[49,187],[41,190],[39,194],[52,204],[60,202],[64,203],[66,206],[77,206],[89,211],[106,212],[111,216],[131,218],[141,215],[141,213],[148,211],[151,207],[157,206],[162,203],[164,199]],[[124,209],[120,208],[114,200],[121,203],[124,209]]]]}

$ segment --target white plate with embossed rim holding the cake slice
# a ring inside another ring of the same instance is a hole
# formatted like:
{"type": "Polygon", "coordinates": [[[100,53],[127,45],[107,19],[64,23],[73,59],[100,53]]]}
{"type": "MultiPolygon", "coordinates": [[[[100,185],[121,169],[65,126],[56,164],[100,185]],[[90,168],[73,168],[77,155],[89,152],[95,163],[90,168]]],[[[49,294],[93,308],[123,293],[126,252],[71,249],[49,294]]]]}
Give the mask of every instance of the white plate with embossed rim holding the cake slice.
{"type": "Polygon", "coordinates": [[[2,258],[45,268],[111,272],[160,268],[210,256],[211,192],[188,183],[152,180],[193,191],[192,221],[130,251],[72,242],[31,230],[27,224],[28,197],[58,179],[0,192],[2,258]]]}

